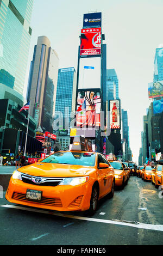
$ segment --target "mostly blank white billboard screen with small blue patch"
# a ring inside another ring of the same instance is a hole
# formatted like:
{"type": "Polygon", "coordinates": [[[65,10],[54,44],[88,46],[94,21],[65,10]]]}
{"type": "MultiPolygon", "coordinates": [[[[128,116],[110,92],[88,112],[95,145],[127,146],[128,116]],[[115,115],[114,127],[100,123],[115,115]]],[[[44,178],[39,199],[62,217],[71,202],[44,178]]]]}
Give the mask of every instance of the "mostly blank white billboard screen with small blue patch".
{"type": "Polygon", "coordinates": [[[80,58],[78,89],[101,89],[101,57],[80,58]]]}

